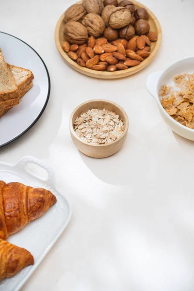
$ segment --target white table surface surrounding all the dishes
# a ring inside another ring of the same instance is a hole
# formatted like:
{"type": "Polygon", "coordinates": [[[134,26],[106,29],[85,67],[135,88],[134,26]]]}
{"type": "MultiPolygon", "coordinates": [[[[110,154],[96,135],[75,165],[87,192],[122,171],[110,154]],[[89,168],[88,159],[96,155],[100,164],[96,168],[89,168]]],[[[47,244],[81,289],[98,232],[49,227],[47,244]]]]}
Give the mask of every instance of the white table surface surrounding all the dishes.
{"type": "Polygon", "coordinates": [[[65,64],[54,43],[58,18],[74,0],[0,0],[0,31],[45,61],[49,104],[35,126],[0,149],[0,161],[32,155],[49,163],[69,199],[69,226],[22,291],[193,291],[194,142],[163,122],[146,78],[194,54],[194,0],[142,0],[162,26],[154,61],[129,78],[103,81],[65,64]],[[105,98],[129,115],[129,137],[114,156],[78,152],[68,129],[81,102],[105,98]]]}

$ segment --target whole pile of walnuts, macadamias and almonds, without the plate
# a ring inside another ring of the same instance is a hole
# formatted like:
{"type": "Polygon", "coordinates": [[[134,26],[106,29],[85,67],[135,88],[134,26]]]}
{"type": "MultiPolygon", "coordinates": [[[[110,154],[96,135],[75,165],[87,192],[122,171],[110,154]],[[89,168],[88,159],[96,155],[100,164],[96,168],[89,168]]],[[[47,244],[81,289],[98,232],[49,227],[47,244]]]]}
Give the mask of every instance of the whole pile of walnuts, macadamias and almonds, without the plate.
{"type": "Polygon", "coordinates": [[[128,0],[82,0],[64,15],[63,50],[82,67],[114,72],[139,65],[149,55],[149,14],[128,0]]]}

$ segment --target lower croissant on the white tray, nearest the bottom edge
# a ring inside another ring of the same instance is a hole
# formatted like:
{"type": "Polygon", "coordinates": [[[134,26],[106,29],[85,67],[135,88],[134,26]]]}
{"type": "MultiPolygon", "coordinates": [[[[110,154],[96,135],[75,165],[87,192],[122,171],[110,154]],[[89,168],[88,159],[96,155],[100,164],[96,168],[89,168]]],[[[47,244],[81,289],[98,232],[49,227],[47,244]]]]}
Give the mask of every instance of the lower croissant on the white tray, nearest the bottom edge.
{"type": "Polygon", "coordinates": [[[0,239],[0,279],[12,277],[33,263],[33,256],[29,251],[0,239]]]}

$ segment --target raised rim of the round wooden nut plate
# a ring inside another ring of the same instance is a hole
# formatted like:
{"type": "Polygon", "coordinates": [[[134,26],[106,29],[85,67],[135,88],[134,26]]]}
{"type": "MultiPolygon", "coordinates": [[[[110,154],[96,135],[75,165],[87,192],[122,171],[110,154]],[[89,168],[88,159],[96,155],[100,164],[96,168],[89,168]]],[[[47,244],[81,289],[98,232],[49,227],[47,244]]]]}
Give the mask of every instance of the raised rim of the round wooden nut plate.
{"type": "MultiPolygon", "coordinates": [[[[82,1],[76,2],[75,4],[81,4],[82,1]]],[[[87,75],[89,77],[93,77],[93,78],[101,78],[101,79],[116,79],[116,78],[122,78],[122,77],[127,77],[129,75],[135,74],[137,72],[139,72],[140,70],[144,69],[147,65],[149,65],[149,63],[153,60],[153,58],[155,57],[156,53],[158,52],[160,46],[161,46],[161,42],[162,42],[162,30],[161,30],[161,25],[157,19],[157,17],[142,3],[133,0],[133,3],[135,5],[139,5],[140,7],[144,7],[146,8],[146,10],[148,11],[149,15],[151,16],[152,20],[155,22],[157,31],[158,31],[158,40],[156,42],[156,46],[154,48],[154,50],[150,53],[150,55],[143,61],[141,62],[140,65],[136,65],[134,67],[130,67],[126,70],[120,70],[120,71],[115,71],[115,72],[100,72],[100,71],[95,71],[92,69],[88,69],[86,67],[82,67],[81,65],[78,65],[76,62],[74,62],[73,60],[71,60],[68,55],[66,54],[66,52],[62,49],[62,46],[60,44],[60,39],[59,39],[59,29],[60,26],[63,22],[64,19],[64,13],[62,14],[62,16],[59,18],[56,28],[55,28],[55,44],[56,47],[58,49],[58,51],[60,52],[60,54],[62,55],[62,57],[65,59],[65,62],[70,65],[73,69],[75,69],[76,71],[80,72],[81,74],[87,75]],[[111,78],[112,77],[112,78],[111,78]]],[[[65,10],[66,11],[66,10],[65,10]]]]}

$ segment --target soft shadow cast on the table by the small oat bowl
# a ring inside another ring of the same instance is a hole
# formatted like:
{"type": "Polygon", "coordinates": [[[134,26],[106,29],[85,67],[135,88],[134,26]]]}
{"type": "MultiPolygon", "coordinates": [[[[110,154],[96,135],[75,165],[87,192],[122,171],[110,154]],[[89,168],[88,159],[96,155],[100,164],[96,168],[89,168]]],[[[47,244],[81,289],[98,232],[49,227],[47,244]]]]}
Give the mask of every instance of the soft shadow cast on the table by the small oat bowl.
{"type": "Polygon", "coordinates": [[[149,149],[131,134],[128,135],[126,143],[120,151],[111,157],[94,159],[81,152],[80,155],[91,172],[108,184],[129,185],[134,180],[142,183],[149,174],[149,149]]]}

